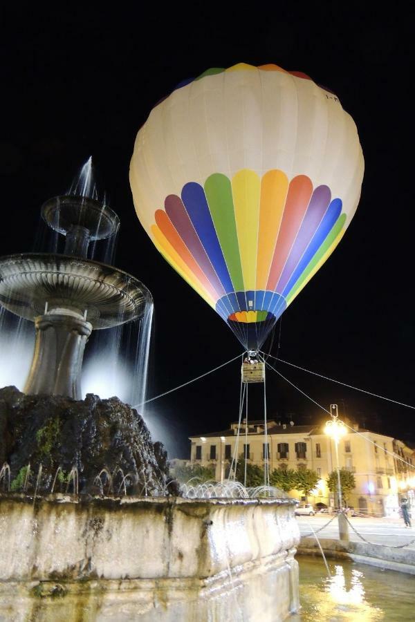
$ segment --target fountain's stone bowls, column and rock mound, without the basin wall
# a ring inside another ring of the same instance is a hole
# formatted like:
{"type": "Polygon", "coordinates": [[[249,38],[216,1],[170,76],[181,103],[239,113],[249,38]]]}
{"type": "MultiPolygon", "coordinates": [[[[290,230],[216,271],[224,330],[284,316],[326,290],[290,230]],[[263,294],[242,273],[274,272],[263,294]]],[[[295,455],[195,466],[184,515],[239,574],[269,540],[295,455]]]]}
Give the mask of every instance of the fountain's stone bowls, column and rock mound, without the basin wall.
{"type": "Polygon", "coordinates": [[[142,417],[117,397],[82,399],[82,359],[91,331],[136,321],[152,304],[140,281],[88,258],[90,244],[113,238],[120,220],[98,200],[91,159],[82,178],[88,183],[42,206],[46,225],[64,236],[62,254],[0,258],[0,305],[32,321],[36,331],[24,392],[0,389],[0,464],[8,462],[14,490],[64,490],[75,469],[80,493],[117,491],[122,484],[129,493],[144,488],[164,494],[167,457],[160,443],[151,442],[142,417]],[[102,472],[118,475],[95,481],[102,472]]]}

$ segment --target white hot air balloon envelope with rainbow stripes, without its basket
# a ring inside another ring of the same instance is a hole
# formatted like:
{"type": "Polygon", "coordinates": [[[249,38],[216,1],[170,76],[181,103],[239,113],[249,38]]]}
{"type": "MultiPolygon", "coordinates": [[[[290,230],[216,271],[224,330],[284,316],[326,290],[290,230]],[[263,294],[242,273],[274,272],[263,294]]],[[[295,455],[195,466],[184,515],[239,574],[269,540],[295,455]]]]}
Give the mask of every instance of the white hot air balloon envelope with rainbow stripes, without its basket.
{"type": "Polygon", "coordinates": [[[255,352],[340,242],[363,169],[356,125],[331,91],[237,64],[154,107],[130,182],[154,245],[255,352]]]}

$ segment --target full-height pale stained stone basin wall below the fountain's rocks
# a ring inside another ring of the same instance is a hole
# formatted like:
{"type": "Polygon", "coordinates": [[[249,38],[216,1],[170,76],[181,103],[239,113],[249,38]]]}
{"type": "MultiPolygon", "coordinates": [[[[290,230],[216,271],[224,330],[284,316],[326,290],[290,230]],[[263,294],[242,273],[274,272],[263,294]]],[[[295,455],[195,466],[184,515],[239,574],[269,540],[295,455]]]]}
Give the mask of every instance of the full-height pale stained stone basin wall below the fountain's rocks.
{"type": "Polygon", "coordinates": [[[298,607],[287,499],[8,496],[0,542],[0,618],[275,622],[298,607]]]}

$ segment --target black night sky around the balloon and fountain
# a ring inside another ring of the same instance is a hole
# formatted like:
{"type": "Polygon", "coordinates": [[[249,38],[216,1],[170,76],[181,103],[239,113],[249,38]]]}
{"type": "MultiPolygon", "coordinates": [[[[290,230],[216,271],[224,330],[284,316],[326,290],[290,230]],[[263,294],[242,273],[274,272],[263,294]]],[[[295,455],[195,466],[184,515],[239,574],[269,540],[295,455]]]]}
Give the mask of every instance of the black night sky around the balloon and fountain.
{"type": "MultiPolygon", "coordinates": [[[[33,248],[44,200],[64,192],[91,154],[121,219],[116,265],[151,290],[155,332],[149,394],[236,356],[225,323],[165,263],[133,209],[129,160],[151,107],[210,66],[275,63],[329,86],[358,126],[366,171],[347,235],[282,318],[279,357],[415,404],[412,272],[413,54],[399,5],[382,14],[338,3],[308,12],[262,3],[65,3],[3,8],[0,138],[1,254],[33,248]],[[333,7],[333,8],[329,8],[333,7]],[[336,10],[335,10],[336,8],[336,10]]],[[[277,335],[279,328],[277,327],[277,335]]],[[[277,336],[273,354],[277,353],[277,336]]],[[[279,364],[317,402],[369,428],[414,438],[414,412],[279,364]]],[[[324,414],[273,372],[268,415],[324,414]],[[291,414],[293,413],[293,414],[291,414]]],[[[151,416],[185,452],[187,436],[237,417],[239,364],[154,403],[151,416]]],[[[261,387],[250,417],[262,417],[261,387]]],[[[171,446],[171,445],[170,445],[171,446]]]]}

